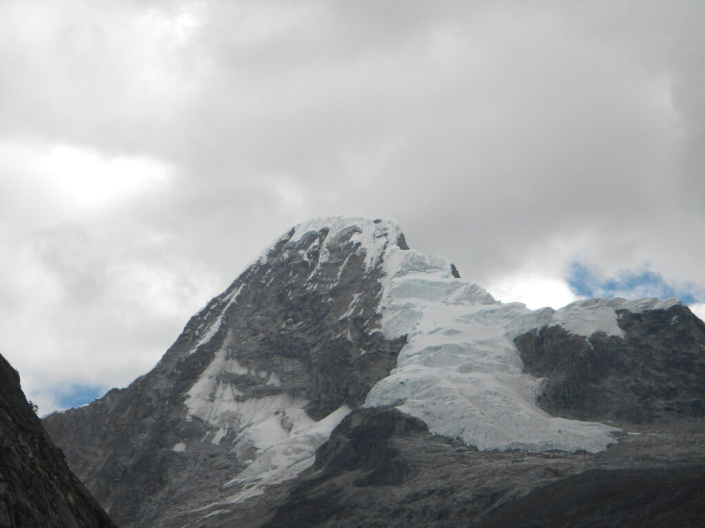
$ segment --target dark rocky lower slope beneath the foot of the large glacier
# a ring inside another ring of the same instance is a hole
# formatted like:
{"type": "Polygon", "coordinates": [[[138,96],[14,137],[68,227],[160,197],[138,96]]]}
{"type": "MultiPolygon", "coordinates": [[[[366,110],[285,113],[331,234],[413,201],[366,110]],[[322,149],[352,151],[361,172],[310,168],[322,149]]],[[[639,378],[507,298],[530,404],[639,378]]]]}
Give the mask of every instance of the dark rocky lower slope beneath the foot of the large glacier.
{"type": "Polygon", "coordinates": [[[355,411],[264,526],[701,526],[705,427],[683,420],[601,453],[529,454],[474,451],[396,410],[355,411]]]}

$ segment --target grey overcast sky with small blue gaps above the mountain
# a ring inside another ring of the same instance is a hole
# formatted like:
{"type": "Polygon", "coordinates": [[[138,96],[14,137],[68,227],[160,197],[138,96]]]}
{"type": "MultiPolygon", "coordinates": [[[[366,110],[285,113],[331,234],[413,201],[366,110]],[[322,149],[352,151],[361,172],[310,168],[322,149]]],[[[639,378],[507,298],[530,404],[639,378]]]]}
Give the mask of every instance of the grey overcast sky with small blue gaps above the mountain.
{"type": "Polygon", "coordinates": [[[394,218],[503,301],[705,315],[701,1],[0,1],[0,353],[149,370],[265,246],[394,218]]]}

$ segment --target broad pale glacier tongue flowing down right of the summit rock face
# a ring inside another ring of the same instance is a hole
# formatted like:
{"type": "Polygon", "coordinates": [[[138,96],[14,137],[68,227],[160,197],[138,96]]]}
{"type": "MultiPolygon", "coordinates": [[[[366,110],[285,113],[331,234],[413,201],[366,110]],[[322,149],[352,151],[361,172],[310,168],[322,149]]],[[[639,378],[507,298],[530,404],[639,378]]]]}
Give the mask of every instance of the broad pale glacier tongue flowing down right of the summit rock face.
{"type": "Polygon", "coordinates": [[[407,344],[365,406],[397,406],[431,432],[481,450],[597,452],[613,442],[614,427],[551,417],[536,405],[541,381],[522,373],[513,338],[553,322],[553,310],[498,303],[453,278],[444,258],[389,247],[384,265],[382,332],[407,334],[407,344]]]}

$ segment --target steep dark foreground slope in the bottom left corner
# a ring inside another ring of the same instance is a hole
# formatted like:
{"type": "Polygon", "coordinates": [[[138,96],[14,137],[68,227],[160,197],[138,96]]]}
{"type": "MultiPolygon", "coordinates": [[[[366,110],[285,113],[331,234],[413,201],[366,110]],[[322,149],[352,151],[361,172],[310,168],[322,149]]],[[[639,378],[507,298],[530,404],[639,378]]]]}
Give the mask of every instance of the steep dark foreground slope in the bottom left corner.
{"type": "Polygon", "coordinates": [[[112,528],[68,469],[0,356],[0,527],[112,528]]]}

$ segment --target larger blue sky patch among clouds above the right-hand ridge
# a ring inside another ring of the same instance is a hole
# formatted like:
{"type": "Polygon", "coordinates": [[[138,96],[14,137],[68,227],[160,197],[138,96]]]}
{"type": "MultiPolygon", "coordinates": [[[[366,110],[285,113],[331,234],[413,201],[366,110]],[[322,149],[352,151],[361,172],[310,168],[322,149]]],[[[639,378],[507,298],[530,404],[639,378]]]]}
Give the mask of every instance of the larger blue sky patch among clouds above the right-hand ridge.
{"type": "Polygon", "coordinates": [[[568,270],[568,285],[576,295],[584,297],[675,297],[685,305],[698,302],[689,289],[667,284],[661,273],[651,270],[648,265],[639,270],[620,271],[614,277],[601,277],[574,261],[568,270]]]}

